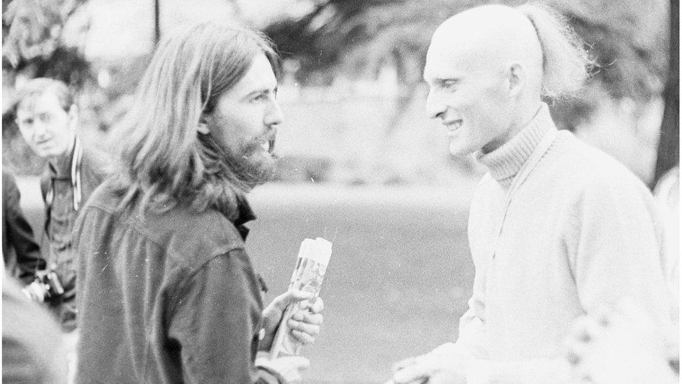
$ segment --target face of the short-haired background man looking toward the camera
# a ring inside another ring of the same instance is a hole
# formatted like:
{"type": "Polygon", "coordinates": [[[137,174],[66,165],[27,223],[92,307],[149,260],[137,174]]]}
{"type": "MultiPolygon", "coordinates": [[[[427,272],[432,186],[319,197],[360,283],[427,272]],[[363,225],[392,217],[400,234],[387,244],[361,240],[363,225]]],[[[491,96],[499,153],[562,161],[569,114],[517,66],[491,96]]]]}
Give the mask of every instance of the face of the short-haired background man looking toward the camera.
{"type": "Polygon", "coordinates": [[[20,102],[17,125],[29,147],[40,157],[64,154],[75,135],[75,116],[64,111],[57,95],[49,91],[20,102]]]}

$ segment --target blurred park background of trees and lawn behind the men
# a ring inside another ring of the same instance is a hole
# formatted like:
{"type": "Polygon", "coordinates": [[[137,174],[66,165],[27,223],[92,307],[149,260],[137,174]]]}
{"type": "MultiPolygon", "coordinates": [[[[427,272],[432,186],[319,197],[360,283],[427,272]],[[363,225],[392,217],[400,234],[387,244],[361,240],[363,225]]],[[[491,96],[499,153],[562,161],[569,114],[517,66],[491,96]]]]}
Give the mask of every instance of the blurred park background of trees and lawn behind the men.
{"type": "MultiPolygon", "coordinates": [[[[280,49],[286,121],[276,183],[257,188],[247,250],[282,292],[300,241],[334,253],[323,333],[305,350],[308,383],[377,383],[391,364],[454,339],[471,293],[468,204],[483,169],[451,157],[426,118],[423,62],[435,27],[483,0],[3,0],[2,162],[40,233],[42,160],[13,120],[26,80],[80,95],[81,136],[106,135],[128,110],[154,46],[192,22],[233,20],[280,49]]],[[[551,104],[561,129],[608,152],[653,187],[679,164],[679,3],[549,0],[599,66],[574,99],[551,104]]]]}

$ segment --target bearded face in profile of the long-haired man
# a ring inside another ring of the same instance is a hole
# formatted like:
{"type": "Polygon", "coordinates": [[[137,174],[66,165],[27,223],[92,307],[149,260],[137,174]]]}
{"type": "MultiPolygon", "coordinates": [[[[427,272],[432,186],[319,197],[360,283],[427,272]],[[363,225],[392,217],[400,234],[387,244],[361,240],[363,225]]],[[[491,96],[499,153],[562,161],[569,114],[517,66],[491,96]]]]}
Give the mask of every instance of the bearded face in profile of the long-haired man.
{"type": "Polygon", "coordinates": [[[276,125],[282,122],[277,96],[277,78],[265,55],[254,58],[251,68],[226,90],[207,125],[218,143],[237,164],[256,173],[275,169],[276,125]]]}

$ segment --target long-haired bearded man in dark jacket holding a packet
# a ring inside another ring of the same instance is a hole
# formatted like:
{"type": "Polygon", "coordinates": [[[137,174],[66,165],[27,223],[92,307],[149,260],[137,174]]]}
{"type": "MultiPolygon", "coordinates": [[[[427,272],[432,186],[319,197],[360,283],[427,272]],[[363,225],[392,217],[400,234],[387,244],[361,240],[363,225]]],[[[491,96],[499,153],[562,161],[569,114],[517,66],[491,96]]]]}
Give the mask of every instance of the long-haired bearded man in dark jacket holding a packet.
{"type": "MultiPolygon", "coordinates": [[[[245,193],[275,169],[279,57],[260,34],[199,24],[159,44],[112,146],[119,171],[75,227],[80,383],[290,383],[304,357],[256,360],[287,292],[263,310],[245,193]]],[[[288,320],[311,343],[317,300],[288,320]]]]}

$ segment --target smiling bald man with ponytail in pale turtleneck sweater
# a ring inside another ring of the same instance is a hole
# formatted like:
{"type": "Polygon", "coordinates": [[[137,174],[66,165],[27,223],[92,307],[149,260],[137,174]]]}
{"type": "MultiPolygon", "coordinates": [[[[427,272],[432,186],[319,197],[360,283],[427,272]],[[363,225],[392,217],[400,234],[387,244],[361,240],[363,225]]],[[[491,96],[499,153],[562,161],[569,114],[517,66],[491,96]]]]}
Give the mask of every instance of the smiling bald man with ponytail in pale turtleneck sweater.
{"type": "Polygon", "coordinates": [[[475,266],[458,339],[399,362],[395,383],[570,381],[576,318],[628,301],[667,325],[662,228],[625,166],[558,131],[546,102],[579,92],[593,63],[544,6],[465,10],[433,34],[426,109],[453,155],[488,172],[472,199],[475,266]]]}

